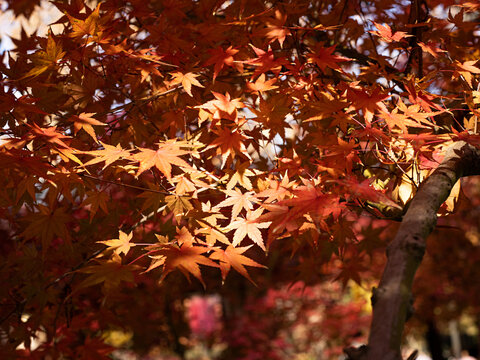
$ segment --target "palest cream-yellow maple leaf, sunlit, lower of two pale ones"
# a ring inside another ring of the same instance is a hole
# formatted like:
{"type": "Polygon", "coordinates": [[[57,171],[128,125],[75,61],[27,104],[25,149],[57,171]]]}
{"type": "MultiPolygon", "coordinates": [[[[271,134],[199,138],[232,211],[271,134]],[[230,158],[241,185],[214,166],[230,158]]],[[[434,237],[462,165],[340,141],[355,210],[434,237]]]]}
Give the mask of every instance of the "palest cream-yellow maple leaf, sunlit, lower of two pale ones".
{"type": "Polygon", "coordinates": [[[245,218],[237,218],[237,220],[234,220],[228,224],[227,229],[235,230],[232,241],[233,246],[237,246],[246,236],[248,236],[255,244],[260,246],[262,250],[266,250],[262,233],[259,229],[265,229],[269,227],[271,222],[258,221],[260,215],[262,215],[262,212],[262,208],[258,208],[255,211],[248,210],[245,218]]]}

